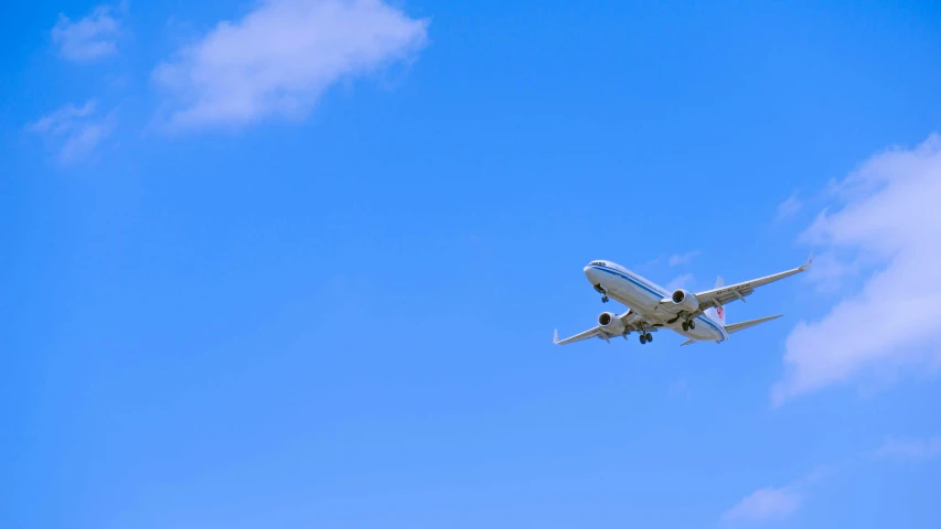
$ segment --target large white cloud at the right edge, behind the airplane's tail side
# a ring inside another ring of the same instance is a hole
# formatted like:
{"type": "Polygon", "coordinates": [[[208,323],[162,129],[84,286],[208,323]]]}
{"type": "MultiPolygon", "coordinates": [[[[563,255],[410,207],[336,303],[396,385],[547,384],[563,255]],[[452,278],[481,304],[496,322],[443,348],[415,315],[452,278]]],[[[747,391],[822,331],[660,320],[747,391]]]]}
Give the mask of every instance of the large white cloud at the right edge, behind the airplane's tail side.
{"type": "Polygon", "coordinates": [[[780,403],[862,373],[931,367],[941,356],[941,137],[877,154],[835,186],[802,240],[880,262],[858,292],[788,336],[780,403]]]}

